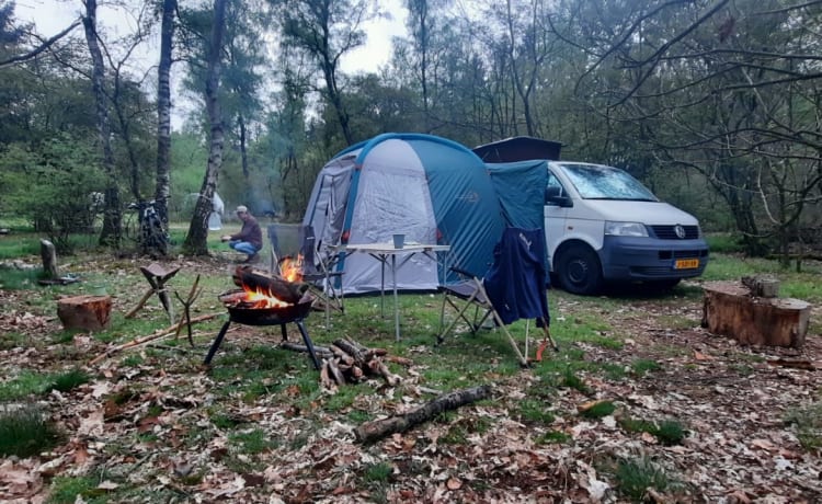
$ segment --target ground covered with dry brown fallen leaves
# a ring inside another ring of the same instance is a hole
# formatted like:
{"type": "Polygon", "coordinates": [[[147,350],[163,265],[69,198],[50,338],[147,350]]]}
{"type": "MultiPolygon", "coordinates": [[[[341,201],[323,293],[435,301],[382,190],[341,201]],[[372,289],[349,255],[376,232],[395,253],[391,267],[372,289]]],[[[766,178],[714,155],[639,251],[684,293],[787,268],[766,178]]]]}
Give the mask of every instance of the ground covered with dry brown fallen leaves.
{"type": "MultiPolygon", "coordinates": [[[[3,333],[35,340],[60,330],[54,317],[28,312],[24,293],[0,290],[0,303],[3,333]]],[[[459,444],[443,442],[453,424],[431,422],[362,446],[354,439],[354,426],[338,416],[322,419],[316,413],[322,426],[309,427],[289,408],[263,398],[253,404],[238,402],[232,414],[281,443],[255,459],[264,469],[253,469],[256,466],[251,463],[242,469],[227,463],[227,433],[212,433],[195,445],[181,440],[210,425],[209,409],[216,399],[207,375],[191,363],[151,362],[126,369],[110,360],[93,369],[94,380],[88,386],[41,399],[71,433],[70,439],[41,457],[0,459],[0,499],[43,502],[57,477],[105,472],[102,493],[123,485],[138,485],[145,492],[128,502],[157,502],[161,496],[167,502],[615,503],[629,500],[616,490],[608,467],[644,458],[678,483],[647,493],[652,502],[822,502],[819,453],[800,446],[796,425],[786,422],[794,412],[820,401],[819,334],[809,334],[800,350],[751,348],[701,329],[698,300],[647,299],[618,308],[596,307],[560,298],[555,333],[576,323],[579,314],[600,310],[595,314],[619,332],[625,345],[605,348],[573,342],[572,348],[591,363],[630,368],[647,359],[659,369],[620,380],[580,373],[589,393],[560,388],[537,398],[550,403],[556,416],[550,426],[529,424],[510,413],[516,402],[534,399],[538,378],[527,369],[498,377],[494,401],[459,410],[453,422],[469,433],[459,444]],[[125,390],[140,390],[140,394],[110,411],[105,398],[125,390]],[[581,404],[596,400],[613,401],[616,412],[600,420],[579,415],[581,404]],[[149,404],[162,413],[146,424],[149,404]],[[651,435],[625,432],[620,417],[675,419],[686,425],[688,436],[681,445],[663,446],[651,435]],[[484,427],[470,428],[476,425],[484,427]],[[157,440],[135,443],[136,433],[142,432],[152,433],[157,440]],[[550,432],[564,433],[568,440],[538,443],[550,432]],[[378,462],[392,468],[388,483],[363,486],[363,474],[378,462]],[[198,473],[196,483],[184,478],[192,471],[198,473]]],[[[819,317],[819,309],[814,310],[819,317]]],[[[232,339],[239,341],[242,334],[232,339]]],[[[8,379],[19,369],[53,369],[104,348],[82,334],[68,346],[4,344],[0,366],[8,379]]],[[[383,402],[377,396],[357,406],[389,414],[425,400],[418,387],[424,383],[415,383],[419,369],[411,365],[403,374],[409,380],[402,403],[383,402]],[[391,410],[386,410],[389,403],[391,410]]],[[[822,433],[817,434],[822,438],[822,433]]]]}

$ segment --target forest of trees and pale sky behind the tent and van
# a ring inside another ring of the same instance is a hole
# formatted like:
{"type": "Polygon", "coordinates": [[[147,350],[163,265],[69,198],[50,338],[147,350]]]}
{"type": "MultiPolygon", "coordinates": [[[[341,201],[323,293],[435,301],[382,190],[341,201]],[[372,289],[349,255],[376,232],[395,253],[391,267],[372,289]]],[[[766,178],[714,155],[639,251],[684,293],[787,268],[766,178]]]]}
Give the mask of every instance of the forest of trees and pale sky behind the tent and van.
{"type": "Polygon", "coordinates": [[[0,2],[0,224],[62,251],[89,228],[121,250],[135,201],[193,255],[215,191],[299,220],[326,161],[387,131],[561,141],[749,253],[822,242],[822,1],[403,0],[375,72],[341,67],[399,15],[374,0],[117,0],[129,33],[75,3],[46,37],[0,2]]]}

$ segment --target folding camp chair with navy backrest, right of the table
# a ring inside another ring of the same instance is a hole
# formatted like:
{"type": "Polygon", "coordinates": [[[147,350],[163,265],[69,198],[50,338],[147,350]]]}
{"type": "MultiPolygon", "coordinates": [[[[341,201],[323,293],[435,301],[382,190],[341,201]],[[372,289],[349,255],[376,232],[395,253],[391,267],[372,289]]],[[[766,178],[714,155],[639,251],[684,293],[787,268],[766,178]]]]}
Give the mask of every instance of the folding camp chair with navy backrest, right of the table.
{"type": "Polygon", "coordinates": [[[537,348],[536,360],[540,360],[548,343],[559,350],[548,330],[550,316],[546,297],[545,241],[541,229],[521,229],[509,227],[502,240],[494,248],[494,262],[491,268],[480,278],[457,267],[454,272],[467,279],[443,287],[443,308],[439,313],[439,334],[437,343],[454,329],[459,320],[465,321],[471,334],[483,327],[491,317],[511,342],[520,363],[528,365],[528,334],[526,325],[525,355],[514,341],[506,325],[518,319],[536,319],[543,329],[545,339],[537,348]],[[456,311],[450,323],[445,324],[446,306],[456,311]],[[468,311],[473,308],[473,316],[468,311]]]}

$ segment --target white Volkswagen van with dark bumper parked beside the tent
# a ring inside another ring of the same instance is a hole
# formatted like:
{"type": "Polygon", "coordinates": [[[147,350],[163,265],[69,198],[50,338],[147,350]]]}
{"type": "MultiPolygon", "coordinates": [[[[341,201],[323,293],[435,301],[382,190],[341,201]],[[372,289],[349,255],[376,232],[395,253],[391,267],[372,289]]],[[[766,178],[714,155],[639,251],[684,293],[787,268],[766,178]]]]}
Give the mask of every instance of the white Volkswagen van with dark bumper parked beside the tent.
{"type": "Polygon", "coordinates": [[[545,230],[551,273],[574,294],[604,282],[673,287],[708,263],[697,219],[660,202],[627,172],[549,161],[545,230]]]}

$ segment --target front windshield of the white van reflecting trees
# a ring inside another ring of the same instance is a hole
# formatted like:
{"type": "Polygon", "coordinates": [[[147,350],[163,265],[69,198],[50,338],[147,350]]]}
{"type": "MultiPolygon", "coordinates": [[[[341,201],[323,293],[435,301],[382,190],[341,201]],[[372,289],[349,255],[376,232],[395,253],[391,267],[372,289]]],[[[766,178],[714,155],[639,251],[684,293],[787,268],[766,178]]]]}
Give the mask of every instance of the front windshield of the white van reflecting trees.
{"type": "Polygon", "coordinates": [[[585,199],[659,201],[641,182],[618,168],[574,163],[560,165],[585,199]]]}

